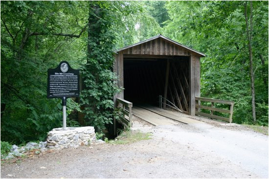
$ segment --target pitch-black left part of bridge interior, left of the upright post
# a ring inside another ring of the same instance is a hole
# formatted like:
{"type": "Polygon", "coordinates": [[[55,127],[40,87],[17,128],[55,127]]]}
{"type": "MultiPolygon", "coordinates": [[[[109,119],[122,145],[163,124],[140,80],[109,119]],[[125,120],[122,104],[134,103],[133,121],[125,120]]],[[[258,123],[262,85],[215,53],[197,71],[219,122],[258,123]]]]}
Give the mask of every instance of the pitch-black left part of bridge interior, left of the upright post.
{"type": "Polygon", "coordinates": [[[124,99],[157,105],[164,93],[166,60],[124,60],[124,99]]]}

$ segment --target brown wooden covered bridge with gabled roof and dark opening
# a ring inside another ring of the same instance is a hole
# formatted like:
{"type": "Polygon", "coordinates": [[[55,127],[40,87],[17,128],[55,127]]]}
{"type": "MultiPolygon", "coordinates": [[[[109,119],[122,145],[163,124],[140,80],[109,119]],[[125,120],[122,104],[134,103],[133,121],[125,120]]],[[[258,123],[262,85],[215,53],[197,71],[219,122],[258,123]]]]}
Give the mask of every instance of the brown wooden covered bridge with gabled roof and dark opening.
{"type": "MultiPolygon", "coordinates": [[[[198,114],[202,57],[203,53],[162,35],[116,50],[113,72],[118,76],[117,85],[124,90],[114,96],[115,107],[121,106],[125,115],[132,115],[131,103],[198,114]]],[[[209,110],[218,111],[211,107],[209,110]]]]}

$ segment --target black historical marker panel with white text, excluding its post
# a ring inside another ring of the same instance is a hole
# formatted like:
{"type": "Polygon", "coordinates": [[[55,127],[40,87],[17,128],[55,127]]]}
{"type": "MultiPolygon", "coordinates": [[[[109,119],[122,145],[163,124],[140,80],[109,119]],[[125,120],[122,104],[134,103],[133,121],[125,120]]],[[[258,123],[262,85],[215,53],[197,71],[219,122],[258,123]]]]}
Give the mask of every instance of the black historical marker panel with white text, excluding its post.
{"type": "Polygon", "coordinates": [[[79,97],[79,70],[62,61],[47,70],[47,98],[79,97]]]}

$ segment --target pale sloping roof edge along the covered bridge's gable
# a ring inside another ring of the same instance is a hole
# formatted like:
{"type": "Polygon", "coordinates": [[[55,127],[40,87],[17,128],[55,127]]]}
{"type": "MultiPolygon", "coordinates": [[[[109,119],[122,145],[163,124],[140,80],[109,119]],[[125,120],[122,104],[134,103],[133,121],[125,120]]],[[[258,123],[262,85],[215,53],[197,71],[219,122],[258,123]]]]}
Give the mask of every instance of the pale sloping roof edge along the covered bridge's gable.
{"type": "Polygon", "coordinates": [[[148,42],[148,41],[155,40],[155,39],[157,39],[157,38],[162,38],[162,39],[164,39],[164,40],[170,41],[171,43],[174,43],[174,44],[176,44],[176,45],[179,45],[180,47],[183,47],[183,48],[185,48],[185,49],[188,49],[188,50],[190,50],[190,51],[192,51],[192,52],[195,52],[195,53],[201,55],[202,57],[205,57],[205,54],[203,54],[202,52],[199,52],[199,51],[194,50],[194,49],[192,49],[192,48],[190,48],[190,47],[187,47],[187,46],[185,46],[185,45],[183,45],[183,44],[181,44],[181,43],[179,43],[179,42],[177,42],[177,41],[175,41],[175,40],[171,40],[171,39],[169,39],[169,38],[167,38],[167,37],[164,37],[164,36],[161,35],[161,34],[159,34],[159,35],[157,35],[157,36],[155,36],[155,37],[152,37],[152,38],[150,38],[150,39],[142,40],[142,41],[137,42],[137,43],[134,43],[134,44],[132,44],[132,45],[129,45],[129,46],[126,46],[126,47],[117,49],[117,50],[115,50],[114,52],[117,53],[117,52],[119,52],[119,51],[122,51],[122,50],[125,50],[125,49],[128,49],[128,48],[132,48],[132,47],[134,47],[134,46],[136,46],[136,45],[140,45],[140,44],[142,44],[142,43],[146,43],[146,42],[148,42]]]}

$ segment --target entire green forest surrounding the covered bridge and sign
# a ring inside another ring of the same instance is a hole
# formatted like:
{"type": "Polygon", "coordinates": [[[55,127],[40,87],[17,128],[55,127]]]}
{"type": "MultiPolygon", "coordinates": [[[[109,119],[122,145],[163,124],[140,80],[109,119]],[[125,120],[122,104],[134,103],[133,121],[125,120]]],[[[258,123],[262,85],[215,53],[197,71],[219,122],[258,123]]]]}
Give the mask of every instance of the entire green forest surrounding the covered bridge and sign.
{"type": "Polygon", "coordinates": [[[83,90],[67,126],[112,123],[113,50],[162,34],[206,55],[201,97],[235,101],[233,122],[268,126],[268,1],[1,1],[1,142],[62,126],[47,69],[66,60],[83,90]],[[78,112],[84,116],[78,121],[78,112]]]}

